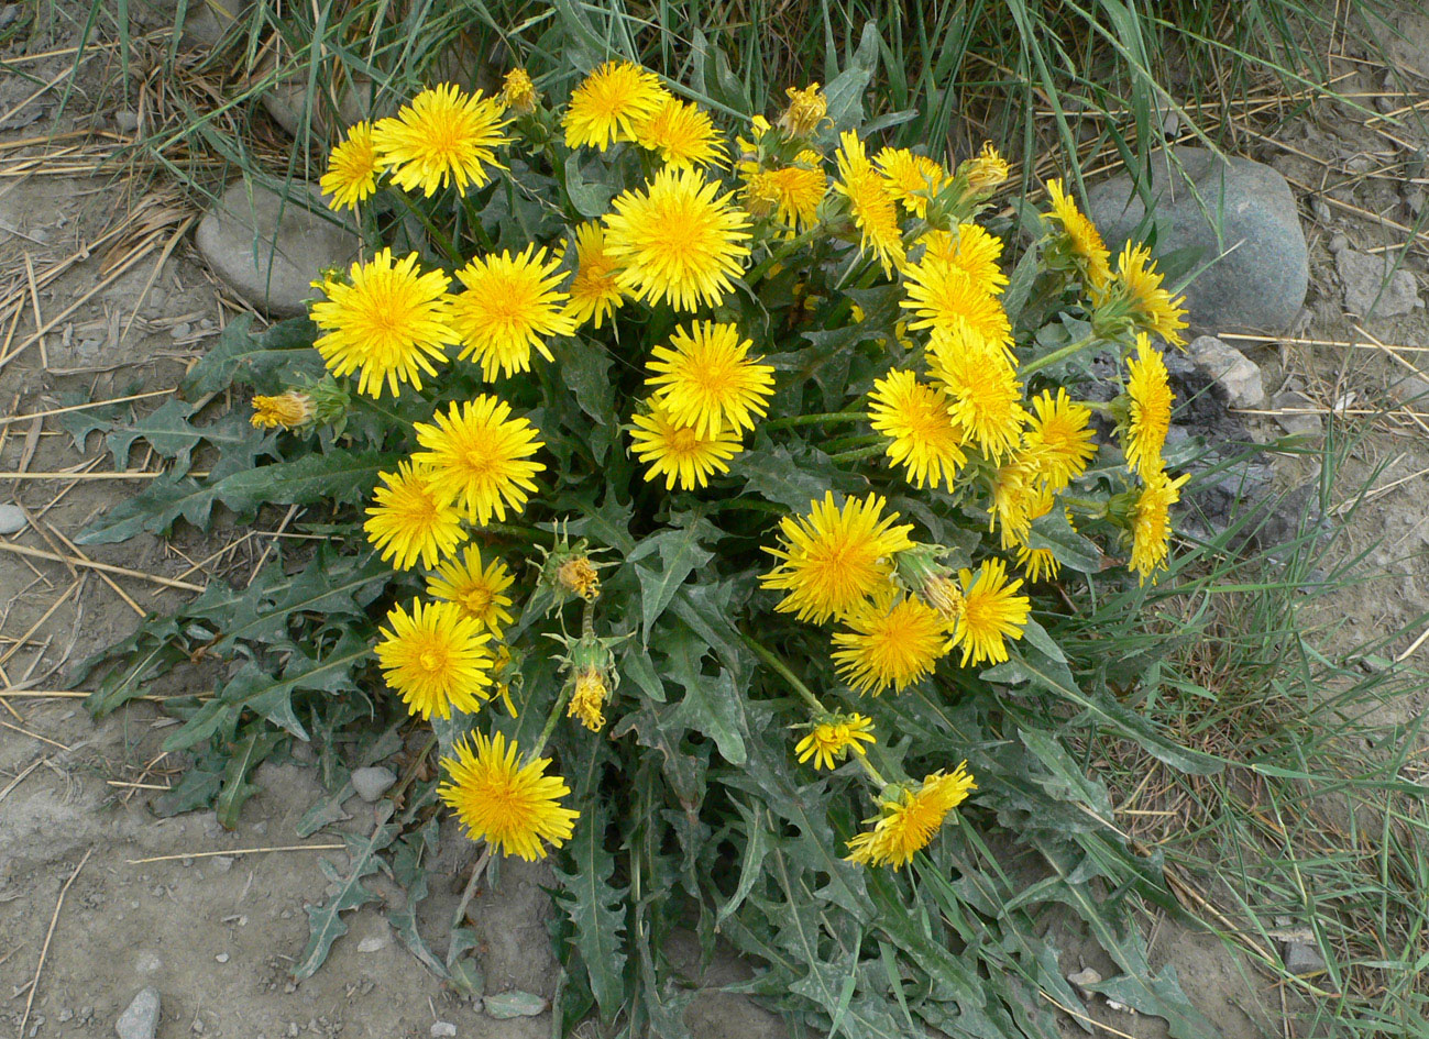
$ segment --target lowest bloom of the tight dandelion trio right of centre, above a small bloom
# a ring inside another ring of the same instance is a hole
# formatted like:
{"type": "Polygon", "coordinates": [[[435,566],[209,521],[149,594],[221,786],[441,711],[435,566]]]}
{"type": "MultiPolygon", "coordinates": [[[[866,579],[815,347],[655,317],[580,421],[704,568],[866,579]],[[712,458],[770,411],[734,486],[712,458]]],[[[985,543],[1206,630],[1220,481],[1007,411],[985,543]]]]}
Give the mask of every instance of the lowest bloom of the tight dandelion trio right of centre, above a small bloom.
{"type": "Polygon", "coordinates": [[[892,590],[849,610],[847,632],[833,633],[839,676],[859,693],[902,693],[933,673],[947,652],[943,619],[922,599],[897,599],[892,590]]]}

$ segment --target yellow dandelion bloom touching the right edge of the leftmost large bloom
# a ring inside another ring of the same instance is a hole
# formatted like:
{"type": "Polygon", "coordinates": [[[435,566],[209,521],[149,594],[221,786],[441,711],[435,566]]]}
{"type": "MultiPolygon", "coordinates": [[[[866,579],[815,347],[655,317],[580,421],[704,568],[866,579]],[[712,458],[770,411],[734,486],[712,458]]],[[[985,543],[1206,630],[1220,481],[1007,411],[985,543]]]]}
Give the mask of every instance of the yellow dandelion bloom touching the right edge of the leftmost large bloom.
{"type": "Polygon", "coordinates": [[[576,319],[566,309],[560,259],[546,262],[546,250],[527,246],[512,256],[472,260],[456,273],[466,292],[452,297],[452,327],[462,337],[457,360],[474,357],[482,376],[496,379],[529,372],[532,347],[546,360],[549,336],[573,336],[576,319]]]}

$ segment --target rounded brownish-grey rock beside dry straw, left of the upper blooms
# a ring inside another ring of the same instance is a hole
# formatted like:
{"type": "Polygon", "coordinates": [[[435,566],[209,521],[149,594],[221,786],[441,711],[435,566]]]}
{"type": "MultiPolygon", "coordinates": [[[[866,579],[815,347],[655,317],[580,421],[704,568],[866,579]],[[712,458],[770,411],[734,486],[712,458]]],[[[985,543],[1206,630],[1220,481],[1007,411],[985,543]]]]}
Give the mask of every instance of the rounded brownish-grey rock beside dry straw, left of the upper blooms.
{"type": "Polygon", "coordinates": [[[324,267],[344,267],[357,236],[322,203],[316,187],[294,184],[290,199],[237,180],[199,222],[194,242],[214,273],[273,314],[307,312],[312,282],[324,267]]]}

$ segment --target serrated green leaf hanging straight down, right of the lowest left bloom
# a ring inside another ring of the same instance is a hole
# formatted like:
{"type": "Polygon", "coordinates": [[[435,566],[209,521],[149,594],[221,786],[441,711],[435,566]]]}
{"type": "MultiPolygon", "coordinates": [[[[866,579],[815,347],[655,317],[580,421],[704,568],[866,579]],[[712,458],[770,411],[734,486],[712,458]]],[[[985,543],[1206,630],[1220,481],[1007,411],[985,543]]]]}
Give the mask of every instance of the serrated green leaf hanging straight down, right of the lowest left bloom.
{"type": "Polygon", "coordinates": [[[576,830],[566,845],[572,869],[556,869],[562,882],[560,906],[572,925],[570,942],[580,953],[580,963],[590,982],[590,992],[600,1005],[600,1015],[613,1020],[624,1005],[624,915],[623,899],[629,888],[614,888],[614,856],[604,847],[609,812],[599,797],[586,802],[576,830]]]}

